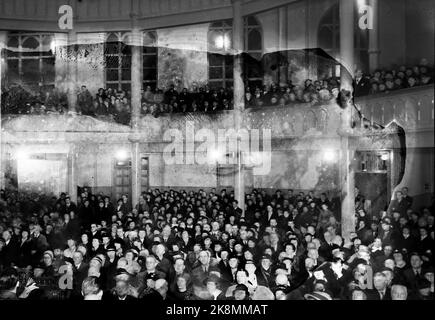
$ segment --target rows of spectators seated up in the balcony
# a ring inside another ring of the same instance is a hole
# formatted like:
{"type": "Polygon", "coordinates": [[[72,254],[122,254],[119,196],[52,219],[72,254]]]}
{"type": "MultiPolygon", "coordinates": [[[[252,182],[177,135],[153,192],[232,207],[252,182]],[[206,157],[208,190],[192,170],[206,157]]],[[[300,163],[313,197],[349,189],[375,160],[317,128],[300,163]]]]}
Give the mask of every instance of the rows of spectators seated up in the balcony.
{"type": "MultiPolygon", "coordinates": [[[[370,75],[361,70],[355,72],[355,97],[388,93],[403,88],[413,88],[433,83],[433,68],[427,60],[419,65],[400,66],[395,69],[379,69],[370,75]]],[[[313,105],[328,103],[339,94],[340,80],[337,77],[311,80],[302,85],[270,86],[246,85],[247,108],[268,106],[291,106],[295,103],[313,105]]],[[[3,90],[2,113],[45,114],[68,111],[68,99],[57,88],[45,88],[32,93],[19,85],[3,90]]],[[[193,85],[179,91],[173,85],[165,90],[146,86],[142,91],[141,113],[158,116],[164,113],[217,112],[233,109],[233,88],[213,89],[208,85],[193,85]]],[[[77,94],[76,111],[83,115],[112,119],[122,124],[130,123],[131,91],[100,88],[96,94],[81,86],[77,94]]]]}

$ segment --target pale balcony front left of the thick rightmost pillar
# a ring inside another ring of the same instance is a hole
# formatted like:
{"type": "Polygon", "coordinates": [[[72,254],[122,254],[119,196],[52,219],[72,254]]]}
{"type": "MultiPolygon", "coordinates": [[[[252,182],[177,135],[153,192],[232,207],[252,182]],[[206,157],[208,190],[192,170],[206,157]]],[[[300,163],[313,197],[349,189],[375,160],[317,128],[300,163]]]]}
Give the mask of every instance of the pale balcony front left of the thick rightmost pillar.
{"type": "MultiPolygon", "coordinates": [[[[339,125],[340,108],[335,104],[311,105],[294,104],[285,107],[263,107],[246,109],[243,113],[242,127],[251,129],[270,129],[272,138],[286,139],[295,137],[334,137],[339,125]]],[[[162,141],[164,131],[177,129],[185,132],[187,124],[193,124],[195,131],[234,128],[234,111],[216,113],[173,113],[154,117],[150,114],[140,119],[141,141],[162,141]]],[[[4,141],[31,141],[65,139],[107,140],[109,136],[128,136],[131,127],[113,121],[72,114],[48,115],[3,115],[2,131],[4,141]],[[69,138],[67,138],[69,137],[69,138]]]]}

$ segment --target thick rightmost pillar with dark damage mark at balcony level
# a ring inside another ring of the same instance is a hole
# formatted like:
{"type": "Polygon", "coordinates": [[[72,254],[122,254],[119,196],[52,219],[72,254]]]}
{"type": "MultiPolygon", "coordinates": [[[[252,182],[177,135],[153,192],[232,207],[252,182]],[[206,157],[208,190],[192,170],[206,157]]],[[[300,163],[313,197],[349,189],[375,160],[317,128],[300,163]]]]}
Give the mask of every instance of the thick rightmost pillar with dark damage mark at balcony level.
{"type": "MultiPolygon", "coordinates": [[[[354,73],[354,1],[340,0],[340,56],[340,89],[349,91],[352,95],[352,78],[354,73]]],[[[350,239],[351,232],[355,231],[354,151],[349,143],[352,132],[352,104],[351,98],[342,98],[343,110],[341,113],[341,127],[339,129],[341,140],[341,232],[347,241],[350,239]]]]}

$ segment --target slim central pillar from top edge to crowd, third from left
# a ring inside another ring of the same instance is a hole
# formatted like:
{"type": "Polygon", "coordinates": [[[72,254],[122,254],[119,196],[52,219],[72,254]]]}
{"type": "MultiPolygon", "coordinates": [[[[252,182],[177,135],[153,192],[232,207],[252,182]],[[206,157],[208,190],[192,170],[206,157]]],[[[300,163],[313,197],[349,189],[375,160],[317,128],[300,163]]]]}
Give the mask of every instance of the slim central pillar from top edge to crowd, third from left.
{"type": "MultiPolygon", "coordinates": [[[[243,83],[243,15],[242,0],[233,0],[233,49],[234,49],[234,129],[238,131],[242,126],[243,111],[245,110],[245,85],[243,83]]],[[[240,137],[237,139],[237,170],[234,184],[234,197],[239,207],[245,212],[245,170],[242,154],[240,153],[240,137]]]]}

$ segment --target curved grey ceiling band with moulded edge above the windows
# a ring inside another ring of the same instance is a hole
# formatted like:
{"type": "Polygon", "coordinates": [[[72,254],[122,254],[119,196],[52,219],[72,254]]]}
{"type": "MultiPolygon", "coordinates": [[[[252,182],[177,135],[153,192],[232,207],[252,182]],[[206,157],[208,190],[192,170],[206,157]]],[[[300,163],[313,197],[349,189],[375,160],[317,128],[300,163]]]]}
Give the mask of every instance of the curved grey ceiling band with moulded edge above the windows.
{"type": "MultiPolygon", "coordinates": [[[[59,7],[73,9],[75,32],[129,30],[132,17],[141,29],[203,23],[232,17],[234,0],[1,0],[0,30],[66,32],[59,7]]],[[[237,0],[236,0],[237,1],[237,0]]],[[[239,0],[244,15],[296,0],[239,0]]]]}

